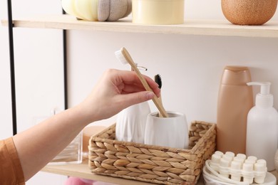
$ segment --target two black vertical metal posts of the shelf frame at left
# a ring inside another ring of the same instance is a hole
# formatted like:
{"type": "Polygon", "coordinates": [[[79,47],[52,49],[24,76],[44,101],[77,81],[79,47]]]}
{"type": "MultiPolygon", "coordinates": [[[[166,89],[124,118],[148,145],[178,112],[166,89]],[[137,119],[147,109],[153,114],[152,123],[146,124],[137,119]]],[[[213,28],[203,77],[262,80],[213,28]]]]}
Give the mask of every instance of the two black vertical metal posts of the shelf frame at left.
{"type": "MultiPolygon", "coordinates": [[[[11,0],[7,0],[8,6],[8,28],[9,28],[9,55],[11,73],[11,111],[13,121],[13,134],[17,133],[16,123],[16,79],[14,70],[14,23],[12,18],[11,0]]],[[[66,14],[63,11],[63,14],[66,14]]],[[[68,73],[67,73],[67,52],[66,52],[66,30],[63,30],[63,83],[64,83],[64,108],[68,109],[68,73]]]]}

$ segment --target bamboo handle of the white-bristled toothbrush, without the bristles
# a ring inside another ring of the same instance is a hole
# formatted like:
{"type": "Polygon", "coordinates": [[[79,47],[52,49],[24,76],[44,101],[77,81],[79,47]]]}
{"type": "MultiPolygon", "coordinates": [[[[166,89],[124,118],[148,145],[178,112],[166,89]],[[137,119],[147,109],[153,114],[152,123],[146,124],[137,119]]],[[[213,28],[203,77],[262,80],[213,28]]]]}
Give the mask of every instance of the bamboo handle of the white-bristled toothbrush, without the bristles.
{"type": "MultiPolygon", "coordinates": [[[[138,78],[140,79],[141,83],[143,84],[145,90],[153,92],[153,90],[150,88],[147,81],[145,80],[145,78],[143,78],[143,75],[140,73],[137,66],[133,62],[133,59],[129,55],[128,51],[125,48],[122,48],[122,50],[123,50],[123,55],[125,55],[125,58],[128,60],[128,63],[131,65],[131,68],[133,68],[135,73],[138,75],[138,78]]],[[[169,117],[168,113],[166,112],[166,110],[164,109],[163,105],[160,103],[160,100],[158,99],[158,97],[156,95],[155,95],[155,97],[153,97],[153,102],[155,103],[155,106],[158,107],[158,110],[159,110],[160,114],[163,115],[163,117],[169,117]]]]}

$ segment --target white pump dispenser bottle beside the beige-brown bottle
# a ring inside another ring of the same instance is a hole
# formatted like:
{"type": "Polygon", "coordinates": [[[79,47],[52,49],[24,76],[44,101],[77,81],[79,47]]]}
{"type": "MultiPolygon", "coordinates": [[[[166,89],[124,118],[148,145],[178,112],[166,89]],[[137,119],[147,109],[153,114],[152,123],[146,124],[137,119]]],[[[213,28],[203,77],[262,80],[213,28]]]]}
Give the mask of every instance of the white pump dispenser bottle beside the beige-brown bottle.
{"type": "Polygon", "coordinates": [[[267,161],[267,171],[274,167],[274,156],[278,142],[278,112],[273,107],[273,95],[269,94],[268,82],[251,82],[260,85],[254,107],[247,115],[246,154],[267,161]]]}

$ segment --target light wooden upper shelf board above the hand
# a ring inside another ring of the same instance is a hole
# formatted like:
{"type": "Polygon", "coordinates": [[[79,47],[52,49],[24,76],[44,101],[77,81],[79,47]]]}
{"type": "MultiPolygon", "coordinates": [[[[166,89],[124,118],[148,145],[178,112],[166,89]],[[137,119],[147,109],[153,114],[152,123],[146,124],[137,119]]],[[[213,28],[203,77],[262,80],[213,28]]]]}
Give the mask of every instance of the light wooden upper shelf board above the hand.
{"type": "MultiPolygon", "coordinates": [[[[3,20],[2,24],[7,26],[7,21],[3,20]]],[[[115,22],[93,22],[78,21],[75,17],[69,15],[47,15],[14,18],[14,27],[278,38],[278,22],[274,21],[269,21],[262,26],[237,26],[226,20],[186,20],[185,23],[177,25],[140,25],[132,23],[130,18],[123,18],[115,22]]]]}

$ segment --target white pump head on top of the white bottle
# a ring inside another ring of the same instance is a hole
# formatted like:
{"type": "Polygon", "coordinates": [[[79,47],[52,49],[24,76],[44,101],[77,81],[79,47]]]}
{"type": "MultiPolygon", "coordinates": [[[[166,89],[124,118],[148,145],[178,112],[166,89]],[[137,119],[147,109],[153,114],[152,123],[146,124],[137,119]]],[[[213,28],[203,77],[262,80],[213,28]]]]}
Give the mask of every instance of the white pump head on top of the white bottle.
{"type": "Polygon", "coordinates": [[[273,95],[270,94],[269,82],[250,82],[247,85],[260,85],[261,91],[256,96],[256,105],[260,107],[272,107],[273,106],[273,95]]]}

